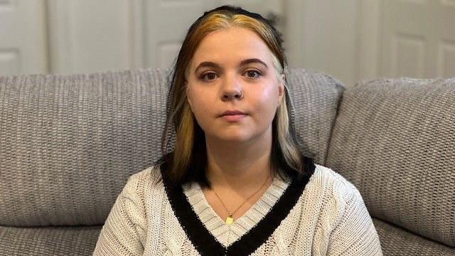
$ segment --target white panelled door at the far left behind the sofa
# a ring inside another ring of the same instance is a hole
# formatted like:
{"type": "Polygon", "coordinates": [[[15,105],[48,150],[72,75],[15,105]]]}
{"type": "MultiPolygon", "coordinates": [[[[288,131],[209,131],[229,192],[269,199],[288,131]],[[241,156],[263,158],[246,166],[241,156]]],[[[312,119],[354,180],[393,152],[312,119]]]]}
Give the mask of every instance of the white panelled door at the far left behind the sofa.
{"type": "Polygon", "coordinates": [[[0,75],[47,73],[43,0],[0,0],[0,75]]]}

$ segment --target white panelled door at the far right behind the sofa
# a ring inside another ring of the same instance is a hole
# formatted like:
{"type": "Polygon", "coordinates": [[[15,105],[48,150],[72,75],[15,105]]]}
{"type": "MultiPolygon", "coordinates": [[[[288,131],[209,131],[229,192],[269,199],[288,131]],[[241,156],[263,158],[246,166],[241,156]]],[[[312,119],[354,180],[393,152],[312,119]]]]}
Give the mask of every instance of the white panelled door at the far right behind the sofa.
{"type": "Polygon", "coordinates": [[[381,42],[383,77],[455,77],[455,1],[384,1],[381,42]]]}

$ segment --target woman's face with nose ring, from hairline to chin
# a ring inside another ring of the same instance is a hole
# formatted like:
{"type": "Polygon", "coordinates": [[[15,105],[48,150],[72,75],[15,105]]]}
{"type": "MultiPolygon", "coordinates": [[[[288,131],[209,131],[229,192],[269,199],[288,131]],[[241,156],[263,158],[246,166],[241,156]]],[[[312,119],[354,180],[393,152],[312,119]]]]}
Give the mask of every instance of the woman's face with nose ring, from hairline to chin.
{"type": "Polygon", "coordinates": [[[253,142],[271,137],[284,94],[284,75],[276,74],[272,52],[255,32],[230,27],[205,36],[187,78],[188,102],[205,138],[253,142]],[[223,115],[227,111],[244,114],[223,115]]]}

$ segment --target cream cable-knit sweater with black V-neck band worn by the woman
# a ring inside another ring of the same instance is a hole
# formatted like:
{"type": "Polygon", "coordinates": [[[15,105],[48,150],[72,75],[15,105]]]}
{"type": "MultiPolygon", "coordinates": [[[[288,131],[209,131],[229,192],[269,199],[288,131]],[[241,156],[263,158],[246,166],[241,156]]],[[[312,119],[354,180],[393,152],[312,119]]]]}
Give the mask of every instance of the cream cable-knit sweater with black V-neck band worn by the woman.
{"type": "Polygon", "coordinates": [[[355,186],[325,166],[311,166],[301,183],[275,177],[230,225],[198,183],[170,190],[151,166],[129,177],[93,255],[382,255],[355,186]]]}

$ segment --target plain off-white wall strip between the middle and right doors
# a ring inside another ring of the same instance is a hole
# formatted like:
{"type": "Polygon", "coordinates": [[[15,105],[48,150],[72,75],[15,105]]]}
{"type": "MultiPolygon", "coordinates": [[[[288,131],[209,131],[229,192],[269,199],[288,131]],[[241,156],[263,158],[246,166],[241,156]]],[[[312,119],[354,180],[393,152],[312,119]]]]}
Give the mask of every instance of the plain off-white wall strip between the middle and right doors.
{"type": "Polygon", "coordinates": [[[358,78],[358,0],[288,3],[287,41],[299,48],[289,65],[321,70],[352,85],[358,78]]]}

